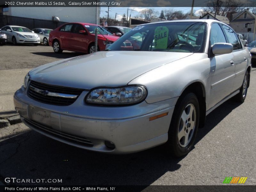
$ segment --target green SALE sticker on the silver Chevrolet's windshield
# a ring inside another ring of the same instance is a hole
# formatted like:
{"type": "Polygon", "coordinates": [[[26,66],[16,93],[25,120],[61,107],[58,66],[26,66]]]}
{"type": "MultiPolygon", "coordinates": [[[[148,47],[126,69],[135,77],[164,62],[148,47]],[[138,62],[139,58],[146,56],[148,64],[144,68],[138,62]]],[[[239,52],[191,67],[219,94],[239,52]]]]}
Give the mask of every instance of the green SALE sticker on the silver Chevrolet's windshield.
{"type": "Polygon", "coordinates": [[[155,49],[166,49],[168,33],[169,29],[167,27],[157,27],[155,29],[155,49]]]}

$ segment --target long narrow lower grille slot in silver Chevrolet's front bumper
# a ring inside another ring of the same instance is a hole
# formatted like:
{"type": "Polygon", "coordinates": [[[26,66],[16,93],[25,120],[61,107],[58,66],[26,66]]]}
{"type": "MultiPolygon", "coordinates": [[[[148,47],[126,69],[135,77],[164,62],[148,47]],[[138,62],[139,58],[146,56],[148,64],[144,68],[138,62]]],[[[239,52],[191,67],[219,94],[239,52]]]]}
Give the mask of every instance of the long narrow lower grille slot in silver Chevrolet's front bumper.
{"type": "Polygon", "coordinates": [[[32,126],[34,129],[40,130],[42,132],[45,132],[46,134],[50,134],[52,136],[54,136],[55,138],[60,138],[62,140],[66,140],[72,143],[77,143],[77,144],[82,144],[84,146],[87,147],[93,147],[93,144],[90,140],[88,140],[87,138],[83,138],[83,137],[77,137],[75,135],[71,135],[68,133],[63,133],[63,132],[59,132],[56,130],[53,130],[51,127],[37,123],[35,121],[32,121],[30,119],[26,119],[24,117],[22,117],[22,119],[30,126],[32,126]]]}

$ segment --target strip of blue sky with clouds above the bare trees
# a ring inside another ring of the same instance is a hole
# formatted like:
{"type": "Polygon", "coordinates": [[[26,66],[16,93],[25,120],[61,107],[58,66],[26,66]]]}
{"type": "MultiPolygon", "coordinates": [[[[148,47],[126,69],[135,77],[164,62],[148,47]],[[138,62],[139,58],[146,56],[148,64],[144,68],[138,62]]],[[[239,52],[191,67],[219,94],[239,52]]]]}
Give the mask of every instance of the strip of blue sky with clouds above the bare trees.
{"type": "MultiPolygon", "coordinates": [[[[123,14],[125,13],[126,17],[127,17],[127,8],[130,9],[129,13],[128,13],[128,17],[131,14],[131,10],[132,14],[131,17],[135,17],[136,15],[140,14],[140,11],[143,9],[154,9],[155,11],[158,11],[159,14],[162,10],[165,9],[170,9],[173,8],[174,10],[180,10],[184,13],[190,12],[191,11],[191,7],[109,7],[109,17],[112,19],[115,19],[115,15],[116,15],[116,20],[121,20],[123,14]]],[[[201,7],[194,7],[193,11],[197,12],[200,11],[201,7]]],[[[104,17],[104,18],[108,18],[108,7],[100,7],[100,17],[104,17]]]]}

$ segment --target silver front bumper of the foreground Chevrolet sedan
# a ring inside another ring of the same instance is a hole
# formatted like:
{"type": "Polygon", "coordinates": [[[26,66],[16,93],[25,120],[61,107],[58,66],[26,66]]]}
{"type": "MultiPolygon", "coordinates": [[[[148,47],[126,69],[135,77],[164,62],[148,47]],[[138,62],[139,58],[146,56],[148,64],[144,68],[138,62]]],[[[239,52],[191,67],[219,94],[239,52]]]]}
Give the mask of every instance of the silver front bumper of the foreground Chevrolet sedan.
{"type": "Polygon", "coordinates": [[[168,130],[178,98],[125,107],[101,107],[84,103],[83,92],[70,106],[53,106],[29,98],[24,88],[14,94],[15,110],[31,129],[52,139],[92,151],[132,153],[152,148],[168,140],[168,130]],[[47,121],[35,120],[32,111],[46,112],[47,121]],[[150,117],[168,113],[149,121],[150,117]],[[114,143],[109,148],[105,141],[114,143]]]}

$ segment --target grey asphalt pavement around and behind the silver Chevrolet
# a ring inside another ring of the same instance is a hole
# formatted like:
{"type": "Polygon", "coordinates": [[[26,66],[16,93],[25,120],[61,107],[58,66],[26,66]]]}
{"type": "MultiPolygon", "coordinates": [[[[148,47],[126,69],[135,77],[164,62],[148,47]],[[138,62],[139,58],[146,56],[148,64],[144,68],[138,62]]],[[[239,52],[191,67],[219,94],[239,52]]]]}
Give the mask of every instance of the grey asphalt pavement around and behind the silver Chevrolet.
{"type": "MultiPolygon", "coordinates": [[[[8,44],[0,46],[0,52],[0,76],[1,70],[34,68],[80,55],[56,54],[43,45],[8,44]]],[[[210,113],[195,147],[179,159],[166,155],[165,146],[106,155],[52,140],[22,123],[0,128],[0,181],[16,177],[62,179],[62,185],[223,185],[226,177],[237,176],[248,177],[244,185],[256,185],[255,95],[254,65],[245,102],[231,99],[210,113]]]]}

